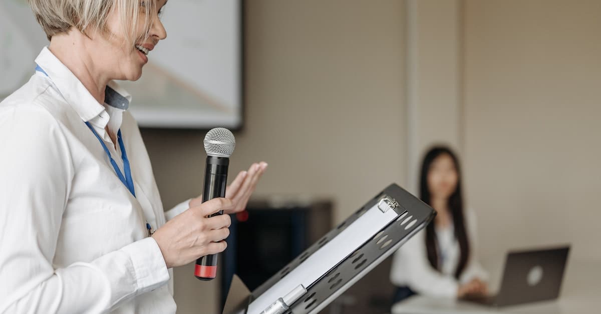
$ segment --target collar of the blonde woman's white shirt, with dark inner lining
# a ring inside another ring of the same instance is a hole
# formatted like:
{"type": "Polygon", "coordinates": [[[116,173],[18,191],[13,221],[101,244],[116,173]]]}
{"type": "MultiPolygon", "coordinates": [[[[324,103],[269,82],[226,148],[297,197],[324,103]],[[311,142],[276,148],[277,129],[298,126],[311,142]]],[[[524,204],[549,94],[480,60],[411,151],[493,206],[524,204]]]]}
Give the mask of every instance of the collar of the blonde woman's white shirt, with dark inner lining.
{"type": "MultiPolygon", "coordinates": [[[[104,128],[109,121],[105,107],[96,101],[88,89],[47,47],[35,58],[35,63],[44,70],[52,80],[63,98],[75,109],[85,122],[90,121],[104,128]],[[97,119],[96,119],[97,118],[97,119]]],[[[117,109],[126,110],[131,101],[131,95],[111,80],[105,90],[105,103],[117,109]]]]}

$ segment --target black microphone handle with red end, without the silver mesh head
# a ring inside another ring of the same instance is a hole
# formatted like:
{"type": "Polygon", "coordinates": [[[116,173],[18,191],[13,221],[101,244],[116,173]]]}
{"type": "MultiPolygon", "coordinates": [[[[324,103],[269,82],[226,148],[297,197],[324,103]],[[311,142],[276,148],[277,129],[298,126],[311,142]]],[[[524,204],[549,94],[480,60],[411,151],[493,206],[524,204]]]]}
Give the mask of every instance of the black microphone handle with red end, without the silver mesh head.
{"type": "MultiPolygon", "coordinates": [[[[214,198],[225,197],[227,172],[230,159],[227,157],[207,156],[207,166],[204,170],[203,203],[214,198]]],[[[210,217],[222,215],[223,211],[210,217]]],[[[194,276],[200,280],[212,280],[217,276],[217,254],[203,256],[196,260],[194,276]]]]}

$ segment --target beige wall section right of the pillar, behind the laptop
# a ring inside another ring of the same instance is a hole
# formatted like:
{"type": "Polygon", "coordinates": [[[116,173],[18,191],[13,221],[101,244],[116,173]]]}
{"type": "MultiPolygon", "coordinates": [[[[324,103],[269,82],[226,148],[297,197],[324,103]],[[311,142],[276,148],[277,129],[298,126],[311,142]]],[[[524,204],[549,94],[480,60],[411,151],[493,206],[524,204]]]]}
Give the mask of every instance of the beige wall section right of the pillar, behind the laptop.
{"type": "Polygon", "coordinates": [[[601,260],[601,1],[465,1],[465,173],[485,257],[601,260]]]}

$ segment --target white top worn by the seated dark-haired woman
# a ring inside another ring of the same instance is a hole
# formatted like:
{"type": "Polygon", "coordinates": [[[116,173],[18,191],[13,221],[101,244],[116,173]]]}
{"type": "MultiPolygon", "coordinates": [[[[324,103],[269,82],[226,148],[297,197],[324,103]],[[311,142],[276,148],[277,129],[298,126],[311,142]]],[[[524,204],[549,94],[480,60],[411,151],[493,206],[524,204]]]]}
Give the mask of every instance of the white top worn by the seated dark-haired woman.
{"type": "Polygon", "coordinates": [[[456,280],[454,277],[454,272],[459,263],[460,249],[451,226],[450,228],[436,229],[439,252],[445,252],[442,273],[435,270],[428,261],[426,230],[423,230],[407,241],[395,253],[390,273],[391,282],[396,286],[409,286],[418,294],[454,298],[457,295],[457,287],[460,283],[469,282],[474,278],[486,281],[488,274],[477,259],[477,222],[474,211],[466,210],[465,217],[470,255],[460,280],[456,280]]]}

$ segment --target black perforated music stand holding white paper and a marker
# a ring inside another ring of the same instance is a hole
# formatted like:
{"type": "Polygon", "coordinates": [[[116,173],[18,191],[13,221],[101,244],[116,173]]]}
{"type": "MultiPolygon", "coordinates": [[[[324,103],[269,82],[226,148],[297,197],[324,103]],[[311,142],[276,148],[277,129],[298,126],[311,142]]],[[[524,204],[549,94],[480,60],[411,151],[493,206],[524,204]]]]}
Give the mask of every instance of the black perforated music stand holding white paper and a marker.
{"type": "Polygon", "coordinates": [[[435,216],[391,184],[252,293],[234,276],[223,313],[318,313],[435,216]]]}

